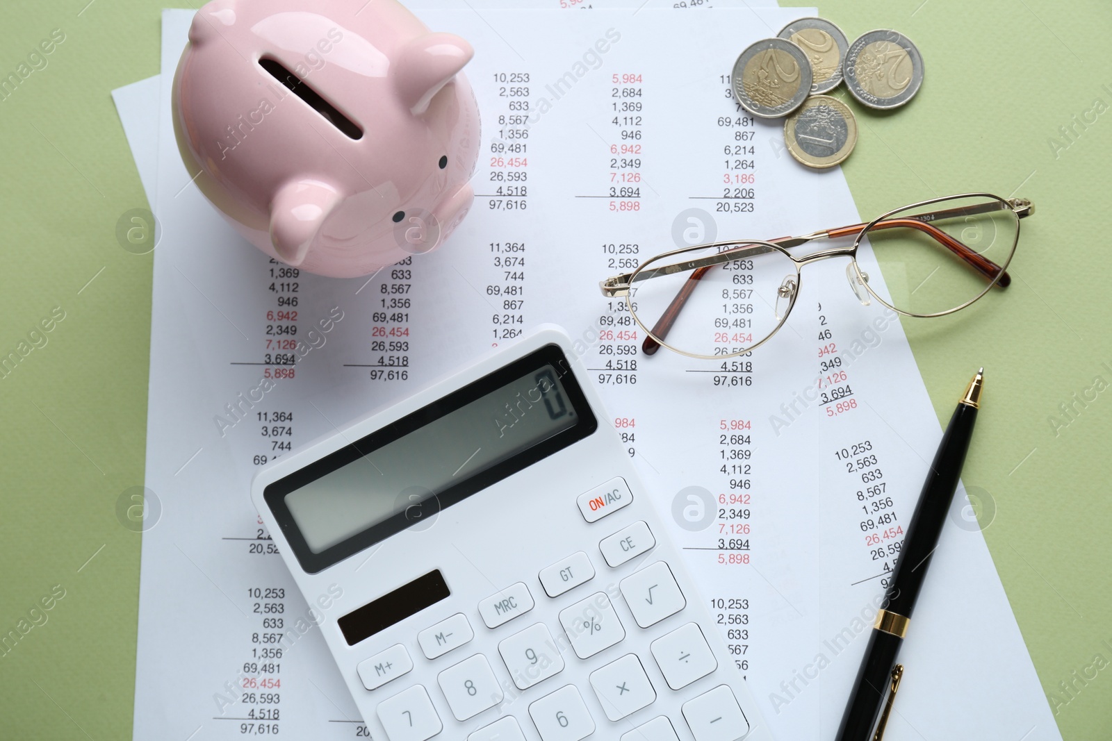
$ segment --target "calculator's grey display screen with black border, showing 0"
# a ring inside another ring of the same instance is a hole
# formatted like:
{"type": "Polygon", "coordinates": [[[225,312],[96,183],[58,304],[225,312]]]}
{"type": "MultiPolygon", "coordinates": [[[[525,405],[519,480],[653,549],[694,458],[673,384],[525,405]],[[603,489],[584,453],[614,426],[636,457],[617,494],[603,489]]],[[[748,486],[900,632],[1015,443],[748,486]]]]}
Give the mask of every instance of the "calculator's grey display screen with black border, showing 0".
{"type": "Polygon", "coordinates": [[[441,508],[538,460],[538,448],[548,455],[585,437],[585,427],[593,431],[594,415],[574,377],[544,358],[523,360],[530,359],[268,487],[268,501],[280,499],[271,508],[295,550],[308,551],[302,565],[308,570],[306,561],[321,563],[325,554],[342,558],[350,547],[334,549],[357,535],[365,548],[405,528],[427,527],[441,508]]]}

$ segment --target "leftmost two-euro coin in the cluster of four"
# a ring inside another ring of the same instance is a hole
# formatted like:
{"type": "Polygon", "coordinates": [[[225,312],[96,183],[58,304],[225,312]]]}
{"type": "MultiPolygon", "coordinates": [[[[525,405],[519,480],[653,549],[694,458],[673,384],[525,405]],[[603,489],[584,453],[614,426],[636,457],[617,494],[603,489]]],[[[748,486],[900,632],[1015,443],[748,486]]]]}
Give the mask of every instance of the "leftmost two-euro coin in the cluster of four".
{"type": "Polygon", "coordinates": [[[731,77],[742,108],[762,119],[778,119],[811,94],[811,62],[785,39],[762,39],[743,51],[731,77]]]}

